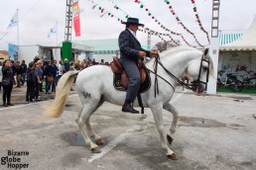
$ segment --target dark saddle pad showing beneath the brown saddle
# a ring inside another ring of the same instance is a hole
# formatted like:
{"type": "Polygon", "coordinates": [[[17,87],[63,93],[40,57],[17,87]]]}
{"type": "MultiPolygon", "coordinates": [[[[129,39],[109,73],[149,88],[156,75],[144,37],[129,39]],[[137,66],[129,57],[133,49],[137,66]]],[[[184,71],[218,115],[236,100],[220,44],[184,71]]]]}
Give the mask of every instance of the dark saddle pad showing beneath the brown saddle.
{"type": "MultiPolygon", "coordinates": [[[[121,73],[114,73],[113,85],[116,90],[127,91],[127,88],[123,86],[123,83],[121,80],[121,73]]],[[[150,88],[150,86],[151,86],[150,73],[146,71],[146,80],[141,84],[139,93],[146,92],[150,88]]]]}

